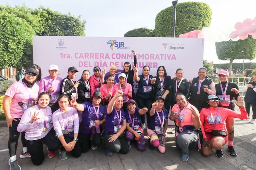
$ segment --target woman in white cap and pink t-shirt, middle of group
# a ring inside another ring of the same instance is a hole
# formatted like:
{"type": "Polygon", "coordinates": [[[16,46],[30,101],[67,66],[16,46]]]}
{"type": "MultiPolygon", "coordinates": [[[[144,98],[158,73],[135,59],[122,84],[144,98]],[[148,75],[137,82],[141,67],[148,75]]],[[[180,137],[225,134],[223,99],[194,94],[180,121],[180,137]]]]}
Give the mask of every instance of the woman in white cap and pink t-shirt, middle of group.
{"type": "Polygon", "coordinates": [[[124,92],[123,94],[123,109],[127,110],[127,101],[132,98],[132,85],[126,83],[126,75],[124,73],[120,73],[118,75],[119,83],[116,83],[117,90],[121,90],[124,92]]]}

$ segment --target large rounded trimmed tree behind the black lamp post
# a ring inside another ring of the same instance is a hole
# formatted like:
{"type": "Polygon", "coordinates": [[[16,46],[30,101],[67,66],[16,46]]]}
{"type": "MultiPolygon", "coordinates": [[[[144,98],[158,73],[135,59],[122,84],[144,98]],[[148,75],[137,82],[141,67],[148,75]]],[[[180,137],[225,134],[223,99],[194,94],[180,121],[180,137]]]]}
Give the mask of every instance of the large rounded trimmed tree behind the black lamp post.
{"type": "MultiPolygon", "coordinates": [[[[176,7],[175,37],[196,29],[210,26],[212,10],[201,2],[179,3],[176,7]]],[[[155,36],[172,37],[173,6],[165,8],[156,15],[155,36]]]]}

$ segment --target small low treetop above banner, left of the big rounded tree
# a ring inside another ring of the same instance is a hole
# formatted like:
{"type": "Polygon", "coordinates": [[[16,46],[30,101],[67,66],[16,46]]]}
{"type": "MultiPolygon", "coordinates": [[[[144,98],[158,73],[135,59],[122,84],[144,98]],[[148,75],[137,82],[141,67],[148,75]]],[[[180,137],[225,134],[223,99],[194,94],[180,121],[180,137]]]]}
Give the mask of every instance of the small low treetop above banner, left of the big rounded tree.
{"type": "Polygon", "coordinates": [[[128,31],[124,37],[155,37],[155,33],[154,30],[142,27],[128,31]]]}

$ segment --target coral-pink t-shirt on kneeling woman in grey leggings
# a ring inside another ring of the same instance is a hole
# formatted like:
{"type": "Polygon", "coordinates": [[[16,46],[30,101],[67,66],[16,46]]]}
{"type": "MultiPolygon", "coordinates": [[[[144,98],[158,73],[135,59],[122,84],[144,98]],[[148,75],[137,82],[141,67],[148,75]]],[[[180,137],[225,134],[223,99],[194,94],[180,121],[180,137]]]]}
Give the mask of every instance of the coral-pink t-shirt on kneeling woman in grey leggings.
{"type": "MultiPolygon", "coordinates": [[[[194,125],[193,121],[192,121],[192,117],[195,117],[192,114],[192,111],[189,109],[192,109],[191,107],[194,108],[194,110],[196,111],[196,113],[199,115],[198,110],[196,109],[196,107],[194,107],[193,105],[191,105],[188,101],[187,101],[188,105],[185,108],[185,110],[182,112],[180,111],[180,126],[183,127],[185,125],[194,125]]],[[[184,109],[184,108],[183,108],[184,109]]],[[[172,111],[175,112],[179,112],[179,104],[176,103],[173,107],[172,107],[172,111]]],[[[178,113],[177,113],[178,114],[178,113]]],[[[176,125],[178,125],[179,120],[175,119],[175,123],[176,125]]]]}

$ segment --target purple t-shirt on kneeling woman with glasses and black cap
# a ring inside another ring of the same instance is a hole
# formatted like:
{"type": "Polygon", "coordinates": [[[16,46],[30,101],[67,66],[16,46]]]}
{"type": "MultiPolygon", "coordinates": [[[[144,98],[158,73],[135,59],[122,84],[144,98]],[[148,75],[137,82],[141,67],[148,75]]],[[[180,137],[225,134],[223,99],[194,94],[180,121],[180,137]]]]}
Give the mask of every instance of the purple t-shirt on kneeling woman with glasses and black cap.
{"type": "MultiPolygon", "coordinates": [[[[82,121],[81,124],[83,124],[86,127],[92,127],[92,124],[94,124],[94,121],[97,120],[97,115],[93,109],[92,103],[89,102],[84,102],[82,103],[84,106],[84,111],[83,111],[83,116],[82,116],[82,121]]],[[[107,114],[106,107],[99,105],[99,119],[102,120],[104,115],[107,114]]],[[[98,110],[98,107],[95,107],[96,112],[98,110]]],[[[82,132],[84,135],[90,135],[92,130],[85,130],[85,129],[79,129],[80,132],[82,132]]]]}

